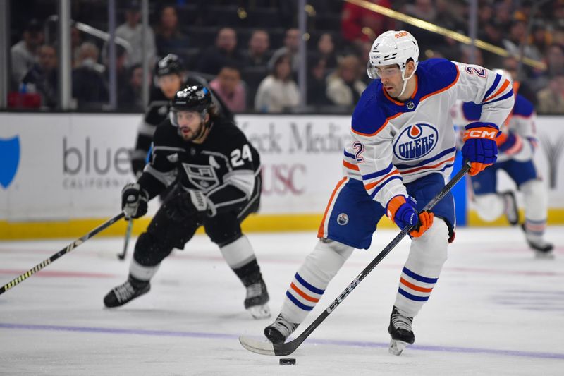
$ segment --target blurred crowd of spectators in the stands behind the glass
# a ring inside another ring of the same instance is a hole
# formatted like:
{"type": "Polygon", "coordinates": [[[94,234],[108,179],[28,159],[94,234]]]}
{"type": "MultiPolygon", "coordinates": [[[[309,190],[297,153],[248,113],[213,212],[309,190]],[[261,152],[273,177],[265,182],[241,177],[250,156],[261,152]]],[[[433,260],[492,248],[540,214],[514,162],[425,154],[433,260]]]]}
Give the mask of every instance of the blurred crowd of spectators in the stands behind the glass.
{"type": "MultiPolygon", "coordinates": [[[[468,34],[465,0],[370,0],[407,15],[468,34]]],[[[151,26],[143,30],[140,1],[116,1],[118,109],[142,111],[144,60],[153,66],[166,54],[180,56],[190,73],[209,80],[234,112],[352,111],[367,87],[368,52],[386,30],[408,30],[419,42],[420,59],[444,57],[487,68],[505,68],[520,81],[520,93],[539,113],[564,114],[564,0],[546,1],[532,14],[534,1],[479,0],[477,37],[510,52],[498,56],[346,1],[310,0],[307,7],[307,94],[298,87],[300,30],[296,0],[149,1],[151,26]],[[231,3],[230,3],[231,4],[231,3]],[[527,24],[533,18],[527,40],[527,24]],[[145,45],[142,35],[145,32],[145,45]],[[522,47],[523,46],[523,47],[522,47]],[[145,56],[143,56],[145,51],[145,56]],[[521,65],[516,56],[541,61],[546,69],[521,65]]],[[[80,0],[73,19],[107,30],[107,12],[94,12],[94,0],[80,0]],[[102,16],[94,16],[102,13],[102,16]]],[[[105,3],[104,3],[104,6],[105,3]]],[[[104,10],[104,8],[102,8],[104,10]]],[[[16,7],[20,13],[28,12],[16,7]]],[[[13,12],[14,12],[13,11],[13,12]]],[[[59,86],[57,42],[46,40],[47,16],[27,17],[11,47],[11,91],[34,92],[40,106],[56,109],[59,86]]],[[[18,19],[22,14],[16,15],[18,19]]],[[[14,25],[13,29],[14,29],[14,25]]],[[[106,42],[72,28],[72,95],[78,109],[104,109],[109,101],[106,42]]],[[[150,77],[145,78],[153,80],[150,77]]]]}

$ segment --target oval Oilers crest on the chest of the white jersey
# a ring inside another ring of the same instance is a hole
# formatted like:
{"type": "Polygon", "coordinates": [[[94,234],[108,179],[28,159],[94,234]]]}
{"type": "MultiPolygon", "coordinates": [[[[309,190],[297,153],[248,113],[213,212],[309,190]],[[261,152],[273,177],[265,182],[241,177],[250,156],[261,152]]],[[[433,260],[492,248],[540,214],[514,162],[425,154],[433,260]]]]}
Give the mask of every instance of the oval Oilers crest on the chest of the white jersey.
{"type": "Polygon", "coordinates": [[[393,153],[404,161],[418,159],[434,149],[439,133],[429,124],[417,123],[405,128],[393,144],[393,153]]]}

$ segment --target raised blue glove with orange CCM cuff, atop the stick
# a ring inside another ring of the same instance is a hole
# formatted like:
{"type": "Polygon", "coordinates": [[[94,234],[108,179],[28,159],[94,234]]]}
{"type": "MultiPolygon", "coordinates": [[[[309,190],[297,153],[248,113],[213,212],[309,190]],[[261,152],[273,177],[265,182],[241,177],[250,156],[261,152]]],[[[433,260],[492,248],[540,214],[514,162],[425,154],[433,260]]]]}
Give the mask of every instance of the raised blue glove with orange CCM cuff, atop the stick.
{"type": "Polygon", "coordinates": [[[498,147],[496,137],[499,133],[494,123],[476,121],[465,127],[462,159],[470,161],[469,174],[474,176],[496,162],[498,147]]]}

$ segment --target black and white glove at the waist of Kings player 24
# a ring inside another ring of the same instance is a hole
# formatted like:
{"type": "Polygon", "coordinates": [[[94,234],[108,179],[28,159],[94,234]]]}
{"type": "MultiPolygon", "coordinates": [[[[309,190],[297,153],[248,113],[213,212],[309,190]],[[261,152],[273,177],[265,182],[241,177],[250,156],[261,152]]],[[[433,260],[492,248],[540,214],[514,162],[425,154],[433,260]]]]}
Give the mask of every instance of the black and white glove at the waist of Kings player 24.
{"type": "Polygon", "coordinates": [[[204,214],[213,217],[216,214],[215,207],[204,193],[199,190],[178,190],[171,202],[168,202],[166,213],[174,221],[202,216],[204,214]]]}

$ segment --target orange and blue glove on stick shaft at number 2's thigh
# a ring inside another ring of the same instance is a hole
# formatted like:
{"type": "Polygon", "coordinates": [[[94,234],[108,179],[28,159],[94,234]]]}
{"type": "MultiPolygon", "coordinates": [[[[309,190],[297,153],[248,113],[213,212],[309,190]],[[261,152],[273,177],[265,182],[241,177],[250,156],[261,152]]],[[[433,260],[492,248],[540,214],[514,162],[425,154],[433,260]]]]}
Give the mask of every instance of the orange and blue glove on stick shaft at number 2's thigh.
{"type": "Polygon", "coordinates": [[[400,229],[405,226],[416,226],[410,235],[419,238],[433,224],[434,214],[427,210],[417,215],[417,203],[410,196],[394,196],[386,205],[386,214],[400,229]]]}

